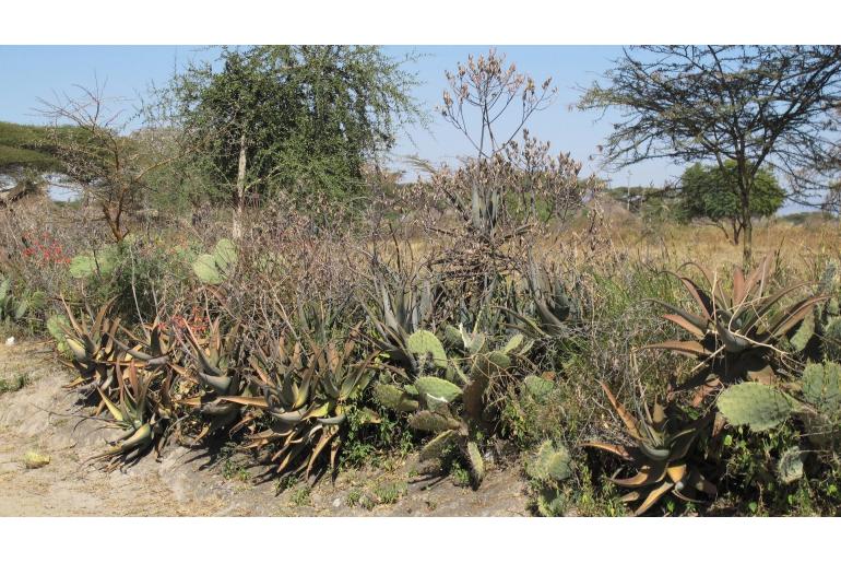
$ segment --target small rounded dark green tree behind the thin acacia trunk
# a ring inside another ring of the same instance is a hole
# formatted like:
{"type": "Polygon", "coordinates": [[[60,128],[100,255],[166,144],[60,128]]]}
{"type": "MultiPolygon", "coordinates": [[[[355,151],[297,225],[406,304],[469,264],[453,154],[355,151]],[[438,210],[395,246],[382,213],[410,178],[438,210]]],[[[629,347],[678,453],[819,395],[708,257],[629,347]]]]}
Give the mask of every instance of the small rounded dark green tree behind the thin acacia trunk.
{"type": "MultiPolygon", "coordinates": [[[[718,165],[696,163],[684,172],[679,188],[683,219],[709,220],[720,226],[733,244],[739,243],[745,221],[735,161],[726,161],[723,171],[718,165]]],[[[750,195],[750,216],[774,214],[784,199],[785,190],[780,187],[773,172],[767,167],[757,171],[750,195]]]]}

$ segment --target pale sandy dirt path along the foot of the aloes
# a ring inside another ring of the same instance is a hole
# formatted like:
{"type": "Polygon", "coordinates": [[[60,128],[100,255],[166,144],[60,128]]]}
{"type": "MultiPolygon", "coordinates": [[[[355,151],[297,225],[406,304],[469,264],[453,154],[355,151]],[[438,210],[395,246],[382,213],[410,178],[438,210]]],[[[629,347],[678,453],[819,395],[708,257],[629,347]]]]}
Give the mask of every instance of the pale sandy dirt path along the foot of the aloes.
{"type": "Polygon", "coordinates": [[[0,344],[0,516],[524,516],[524,483],[516,469],[491,470],[479,491],[446,479],[429,486],[413,460],[390,470],[342,472],[335,483],[256,483],[236,458],[170,447],[106,473],[81,460],[102,451],[104,431],[92,421],[57,417],[73,408],[61,388],[70,375],[45,344],[0,344]],[[27,469],[26,453],[50,457],[27,469]]]}

